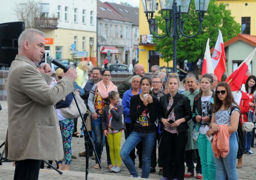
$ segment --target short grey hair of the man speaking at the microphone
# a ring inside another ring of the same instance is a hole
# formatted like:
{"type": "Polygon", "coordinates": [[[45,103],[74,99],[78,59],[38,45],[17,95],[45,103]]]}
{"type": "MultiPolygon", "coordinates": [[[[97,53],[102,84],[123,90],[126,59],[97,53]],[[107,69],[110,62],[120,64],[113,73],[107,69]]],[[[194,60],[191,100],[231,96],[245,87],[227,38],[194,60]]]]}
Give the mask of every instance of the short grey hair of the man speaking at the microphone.
{"type": "Polygon", "coordinates": [[[45,37],[44,33],[40,30],[36,30],[36,29],[27,29],[25,31],[23,31],[20,34],[20,37],[18,39],[18,49],[20,50],[21,47],[23,47],[23,44],[25,41],[28,41],[30,44],[32,44],[33,42],[36,41],[35,35],[39,34],[41,35],[43,38],[45,37]]]}

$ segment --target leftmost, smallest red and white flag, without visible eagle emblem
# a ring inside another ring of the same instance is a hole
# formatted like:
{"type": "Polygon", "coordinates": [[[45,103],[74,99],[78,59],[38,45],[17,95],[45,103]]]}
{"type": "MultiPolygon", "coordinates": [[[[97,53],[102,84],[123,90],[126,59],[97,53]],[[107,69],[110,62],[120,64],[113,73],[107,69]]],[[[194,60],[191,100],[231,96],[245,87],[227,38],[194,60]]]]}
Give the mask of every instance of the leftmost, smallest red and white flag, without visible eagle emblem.
{"type": "Polygon", "coordinates": [[[210,41],[210,38],[208,38],[208,40],[207,40],[206,49],[205,49],[205,52],[204,52],[202,75],[204,75],[205,73],[209,73],[209,74],[214,73],[213,67],[212,67],[212,59],[211,59],[209,41],[210,41]]]}

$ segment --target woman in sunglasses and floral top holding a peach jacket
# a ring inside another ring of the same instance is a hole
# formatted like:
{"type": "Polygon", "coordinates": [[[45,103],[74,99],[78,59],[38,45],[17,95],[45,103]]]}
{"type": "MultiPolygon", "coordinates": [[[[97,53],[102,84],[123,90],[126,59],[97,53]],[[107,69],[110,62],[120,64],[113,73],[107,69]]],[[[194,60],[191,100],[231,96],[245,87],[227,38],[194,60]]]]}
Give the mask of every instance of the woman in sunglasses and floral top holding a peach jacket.
{"type": "Polygon", "coordinates": [[[216,86],[215,92],[212,120],[210,129],[207,131],[206,135],[210,136],[217,133],[212,140],[212,150],[217,170],[216,179],[225,180],[227,173],[228,179],[238,180],[238,174],[236,172],[238,138],[236,130],[238,128],[240,111],[238,105],[234,101],[228,83],[219,83],[216,86]],[[217,148],[220,148],[220,146],[217,146],[218,137],[221,137],[221,144],[229,146],[229,151],[218,152],[218,150],[216,150],[217,148]]]}

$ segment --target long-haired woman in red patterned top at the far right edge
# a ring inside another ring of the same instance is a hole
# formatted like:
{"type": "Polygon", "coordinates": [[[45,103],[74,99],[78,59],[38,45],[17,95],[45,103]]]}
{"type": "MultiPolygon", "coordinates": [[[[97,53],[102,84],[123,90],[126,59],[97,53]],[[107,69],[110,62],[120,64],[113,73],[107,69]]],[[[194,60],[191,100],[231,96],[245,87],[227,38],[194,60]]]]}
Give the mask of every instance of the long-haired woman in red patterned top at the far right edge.
{"type": "MultiPolygon", "coordinates": [[[[254,75],[250,75],[246,80],[245,90],[246,90],[245,93],[247,93],[248,97],[250,98],[250,102],[249,102],[250,111],[248,113],[248,116],[250,115],[250,117],[248,117],[248,119],[250,118],[251,120],[253,120],[253,116],[255,115],[255,107],[256,107],[256,104],[254,104],[255,96],[256,96],[256,77],[254,75]]],[[[252,131],[246,132],[244,154],[255,156],[255,154],[251,150],[251,142],[252,142],[252,131]]]]}

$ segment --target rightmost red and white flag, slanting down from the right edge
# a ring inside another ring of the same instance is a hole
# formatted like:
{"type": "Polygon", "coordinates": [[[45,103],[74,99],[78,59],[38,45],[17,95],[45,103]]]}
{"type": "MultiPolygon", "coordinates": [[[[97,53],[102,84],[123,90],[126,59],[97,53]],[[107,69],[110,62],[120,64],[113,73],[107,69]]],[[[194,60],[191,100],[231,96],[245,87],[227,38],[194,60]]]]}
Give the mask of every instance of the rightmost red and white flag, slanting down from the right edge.
{"type": "Polygon", "coordinates": [[[256,52],[256,48],[242,61],[242,63],[237,67],[237,69],[226,79],[225,82],[227,82],[230,86],[231,91],[237,91],[240,89],[244,76],[246,74],[246,71],[248,69],[248,66],[250,65],[252,61],[252,57],[254,56],[256,52]]]}

